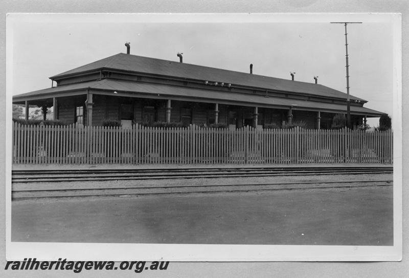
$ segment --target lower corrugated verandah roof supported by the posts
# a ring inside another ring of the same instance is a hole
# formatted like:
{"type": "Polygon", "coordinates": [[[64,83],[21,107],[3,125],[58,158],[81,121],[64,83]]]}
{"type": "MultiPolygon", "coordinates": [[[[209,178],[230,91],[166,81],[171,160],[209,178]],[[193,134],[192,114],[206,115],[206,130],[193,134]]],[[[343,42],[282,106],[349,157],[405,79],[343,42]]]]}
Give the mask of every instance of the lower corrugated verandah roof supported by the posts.
{"type": "MultiPolygon", "coordinates": [[[[113,94],[113,91],[118,93],[135,93],[135,94],[150,94],[154,98],[166,98],[166,97],[179,97],[179,98],[190,98],[196,99],[197,101],[207,102],[225,102],[232,103],[236,102],[237,105],[254,105],[254,106],[282,106],[283,108],[289,108],[292,106],[295,110],[316,110],[316,111],[333,111],[335,113],[345,112],[346,106],[343,104],[334,104],[326,102],[316,102],[316,101],[307,101],[299,99],[290,99],[290,98],[280,98],[280,97],[264,97],[260,95],[251,95],[251,94],[232,94],[230,92],[222,91],[212,91],[212,90],[202,90],[202,89],[193,89],[187,87],[177,87],[172,85],[164,84],[151,84],[151,83],[141,83],[141,82],[130,82],[122,80],[112,80],[112,79],[103,79],[99,81],[89,81],[83,83],[75,83],[69,85],[61,85],[58,87],[48,88],[44,90],[34,91],[22,95],[17,95],[13,97],[13,101],[22,101],[32,96],[51,98],[53,94],[75,91],[75,90],[101,90],[101,91],[110,91],[113,94]]],[[[140,96],[142,97],[142,96],[140,96]]],[[[368,115],[368,116],[380,116],[384,113],[368,109],[361,106],[351,105],[351,113],[359,115],[368,115]]]]}

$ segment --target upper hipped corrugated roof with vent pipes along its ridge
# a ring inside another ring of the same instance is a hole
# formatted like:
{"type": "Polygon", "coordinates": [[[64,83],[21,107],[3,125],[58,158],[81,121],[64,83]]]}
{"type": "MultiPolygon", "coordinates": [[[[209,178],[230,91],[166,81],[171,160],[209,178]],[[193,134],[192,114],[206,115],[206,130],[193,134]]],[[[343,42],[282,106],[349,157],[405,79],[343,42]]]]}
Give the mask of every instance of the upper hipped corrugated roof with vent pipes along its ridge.
{"type": "MultiPolygon", "coordinates": [[[[82,67],[66,71],[50,77],[51,79],[61,79],[61,77],[79,74],[82,72],[111,69],[119,71],[128,71],[134,73],[147,73],[154,75],[171,76],[177,78],[188,78],[195,80],[218,81],[232,83],[248,87],[264,88],[269,90],[303,93],[331,98],[346,99],[347,95],[343,92],[326,87],[322,84],[291,81],[275,77],[249,74],[243,72],[222,70],[189,63],[180,63],[176,61],[162,60],[150,57],[136,56],[119,53],[102,60],[98,60],[82,67]]],[[[352,100],[364,99],[350,96],[352,100]]]]}

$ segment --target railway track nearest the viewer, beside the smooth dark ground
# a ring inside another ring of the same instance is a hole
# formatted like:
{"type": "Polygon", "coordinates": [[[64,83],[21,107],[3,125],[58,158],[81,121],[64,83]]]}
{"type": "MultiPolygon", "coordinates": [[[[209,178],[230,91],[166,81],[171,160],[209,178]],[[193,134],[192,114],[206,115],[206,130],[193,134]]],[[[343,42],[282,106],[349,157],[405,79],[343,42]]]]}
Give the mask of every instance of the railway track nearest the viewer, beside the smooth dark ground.
{"type": "Polygon", "coordinates": [[[184,184],[184,185],[130,185],[126,187],[91,186],[85,188],[13,188],[12,198],[67,198],[67,197],[102,197],[102,196],[140,196],[140,195],[169,195],[169,194],[197,194],[197,193],[226,193],[271,191],[316,188],[352,188],[370,186],[392,186],[393,180],[336,180],[336,181],[299,181],[254,184],[184,184]]]}

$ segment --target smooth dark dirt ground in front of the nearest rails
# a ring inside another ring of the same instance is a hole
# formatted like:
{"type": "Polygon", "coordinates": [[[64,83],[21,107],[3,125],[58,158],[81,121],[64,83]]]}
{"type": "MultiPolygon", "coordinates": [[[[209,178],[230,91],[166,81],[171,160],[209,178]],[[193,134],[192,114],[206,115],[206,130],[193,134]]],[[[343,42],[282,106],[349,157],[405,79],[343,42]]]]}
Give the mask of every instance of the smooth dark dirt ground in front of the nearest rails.
{"type": "Polygon", "coordinates": [[[12,202],[12,241],[393,245],[393,187],[12,202]]]}

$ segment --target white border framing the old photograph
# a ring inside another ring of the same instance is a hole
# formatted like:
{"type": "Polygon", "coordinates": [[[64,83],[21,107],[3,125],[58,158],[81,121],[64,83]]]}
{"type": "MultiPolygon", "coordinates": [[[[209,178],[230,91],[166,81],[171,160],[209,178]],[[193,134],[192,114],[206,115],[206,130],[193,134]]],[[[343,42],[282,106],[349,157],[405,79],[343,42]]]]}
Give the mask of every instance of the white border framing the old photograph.
{"type": "Polygon", "coordinates": [[[123,20],[124,23],[238,23],[238,22],[385,22],[393,26],[394,40],[394,245],[393,246],[309,246],[309,245],[202,245],[202,244],[115,244],[115,243],[23,243],[11,242],[11,163],[6,163],[6,259],[75,261],[399,261],[402,256],[402,53],[400,14],[343,13],[220,13],[220,14],[35,14],[13,13],[6,20],[6,161],[12,161],[12,73],[13,24],[18,20],[123,20]],[[92,16],[89,16],[92,15],[92,16]],[[138,16],[135,16],[138,15],[138,16]],[[81,250],[81,252],[79,252],[81,250]]]}

